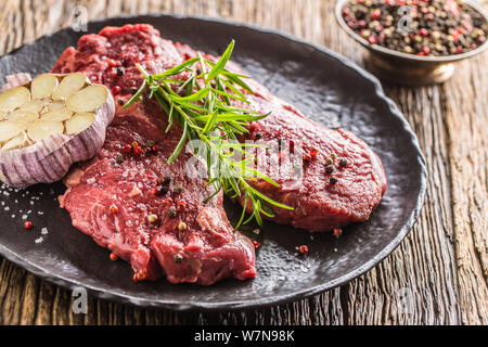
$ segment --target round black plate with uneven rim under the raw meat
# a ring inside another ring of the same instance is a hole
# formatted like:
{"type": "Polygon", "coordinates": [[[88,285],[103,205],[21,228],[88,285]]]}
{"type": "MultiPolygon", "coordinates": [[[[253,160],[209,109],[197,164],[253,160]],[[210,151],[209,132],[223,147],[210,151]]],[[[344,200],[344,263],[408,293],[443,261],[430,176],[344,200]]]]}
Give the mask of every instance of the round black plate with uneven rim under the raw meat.
{"type": "MultiPolygon", "coordinates": [[[[164,279],[132,283],[128,264],[110,261],[107,249],[72,227],[68,214],[55,201],[64,190],[61,183],[18,192],[2,188],[1,255],[40,278],[70,288],[84,286],[102,298],[177,310],[233,309],[296,300],[344,284],[370,270],[407,235],[422,206],[425,163],[415,136],[374,77],[326,49],[222,21],[137,16],[93,22],[88,29],[98,33],[126,23],[150,23],[165,38],[217,54],[234,38],[233,59],[254,78],[317,121],[351,130],[375,150],[389,183],[383,202],[368,222],[346,228],[338,240],[330,233],[311,236],[268,223],[258,237],[262,246],[257,252],[255,280],[202,287],[172,285],[164,279]],[[35,226],[31,231],[22,227],[27,211],[35,226]],[[43,227],[47,234],[41,232],[43,227]],[[43,241],[36,243],[39,237],[43,241]],[[310,247],[306,258],[294,255],[300,244],[310,247]]],[[[2,56],[1,78],[50,70],[81,34],[63,29],[2,56]]],[[[239,211],[232,204],[227,209],[231,219],[239,211]]]]}

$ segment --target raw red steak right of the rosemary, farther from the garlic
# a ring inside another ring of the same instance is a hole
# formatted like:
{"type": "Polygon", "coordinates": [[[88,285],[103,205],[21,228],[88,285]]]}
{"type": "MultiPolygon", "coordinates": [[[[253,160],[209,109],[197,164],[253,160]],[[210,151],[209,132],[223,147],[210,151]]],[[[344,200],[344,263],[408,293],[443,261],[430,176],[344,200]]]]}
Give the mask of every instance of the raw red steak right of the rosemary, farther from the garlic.
{"type": "MultiPolygon", "coordinates": [[[[196,51],[187,44],[177,42],[175,47],[184,60],[196,56],[196,51]]],[[[205,57],[215,61],[211,55],[205,57]]],[[[233,63],[230,68],[244,73],[233,63]]],[[[377,155],[354,133],[328,129],[258,82],[249,80],[248,85],[255,91],[248,97],[251,105],[236,106],[271,114],[252,124],[251,134],[243,140],[270,147],[255,152],[257,166],[280,188],[261,179],[251,184],[294,208],[273,207],[272,220],[309,231],[328,231],[368,220],[386,190],[386,176],[377,155]],[[328,163],[331,156],[335,158],[328,163]]]]}

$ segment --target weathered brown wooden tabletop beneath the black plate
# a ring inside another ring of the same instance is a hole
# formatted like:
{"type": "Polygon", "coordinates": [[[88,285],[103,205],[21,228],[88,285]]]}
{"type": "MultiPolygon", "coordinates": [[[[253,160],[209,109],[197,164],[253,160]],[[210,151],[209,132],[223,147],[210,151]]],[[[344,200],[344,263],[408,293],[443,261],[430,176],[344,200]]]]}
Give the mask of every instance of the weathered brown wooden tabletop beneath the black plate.
{"type": "MultiPolygon", "coordinates": [[[[88,17],[170,12],[277,28],[360,65],[358,44],[335,23],[328,0],[7,0],[0,3],[0,54],[88,17]]],[[[363,277],[310,299],[267,309],[176,313],[89,299],[74,314],[70,292],[0,258],[3,324],[487,324],[488,54],[462,62],[446,83],[384,83],[416,132],[428,190],[411,234],[363,277]],[[404,307],[409,309],[404,309],[404,307]]]]}

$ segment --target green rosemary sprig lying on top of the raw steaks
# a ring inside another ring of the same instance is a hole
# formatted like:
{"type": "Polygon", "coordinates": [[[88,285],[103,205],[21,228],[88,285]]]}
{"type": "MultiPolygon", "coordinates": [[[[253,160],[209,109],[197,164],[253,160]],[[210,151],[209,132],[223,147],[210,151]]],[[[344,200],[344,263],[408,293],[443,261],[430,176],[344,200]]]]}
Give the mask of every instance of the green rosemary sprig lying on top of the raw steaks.
{"type": "Polygon", "coordinates": [[[245,93],[253,93],[244,81],[251,77],[226,68],[233,48],[232,40],[216,63],[198,55],[155,75],[149,74],[138,64],[144,80],[124,107],[138,101],[144,90],[149,89],[149,98],[154,98],[168,115],[165,131],[168,132],[175,123],[182,127],[182,136],[169,156],[168,164],[179,156],[188,141],[201,141],[203,149],[194,149],[193,152],[206,162],[208,172],[206,185],[211,184],[215,188],[215,192],[206,201],[220,191],[231,198],[242,197],[244,208],[235,227],[239,229],[253,218],[261,226],[261,215],[274,216],[270,206],[293,208],[269,198],[248,183],[248,180],[264,179],[279,187],[268,176],[252,167],[255,158],[246,149],[262,145],[237,142],[239,136],[248,133],[248,121],[262,119],[269,114],[259,114],[251,108],[232,105],[232,100],[248,103],[245,93]],[[178,78],[183,72],[190,73],[188,79],[178,78]],[[243,159],[237,159],[236,153],[241,154],[243,159]],[[253,208],[247,219],[245,219],[246,206],[253,208]]]}

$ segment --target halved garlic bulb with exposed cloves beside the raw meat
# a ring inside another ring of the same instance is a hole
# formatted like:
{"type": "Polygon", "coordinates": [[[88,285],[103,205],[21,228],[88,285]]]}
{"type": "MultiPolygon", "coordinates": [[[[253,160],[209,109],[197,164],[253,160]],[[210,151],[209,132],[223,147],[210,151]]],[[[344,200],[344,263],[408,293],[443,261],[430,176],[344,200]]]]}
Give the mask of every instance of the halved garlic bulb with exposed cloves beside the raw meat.
{"type": "Polygon", "coordinates": [[[0,93],[1,181],[16,188],[53,182],[102,147],[115,113],[106,87],[81,73],[42,74],[5,87],[0,93]]]}

